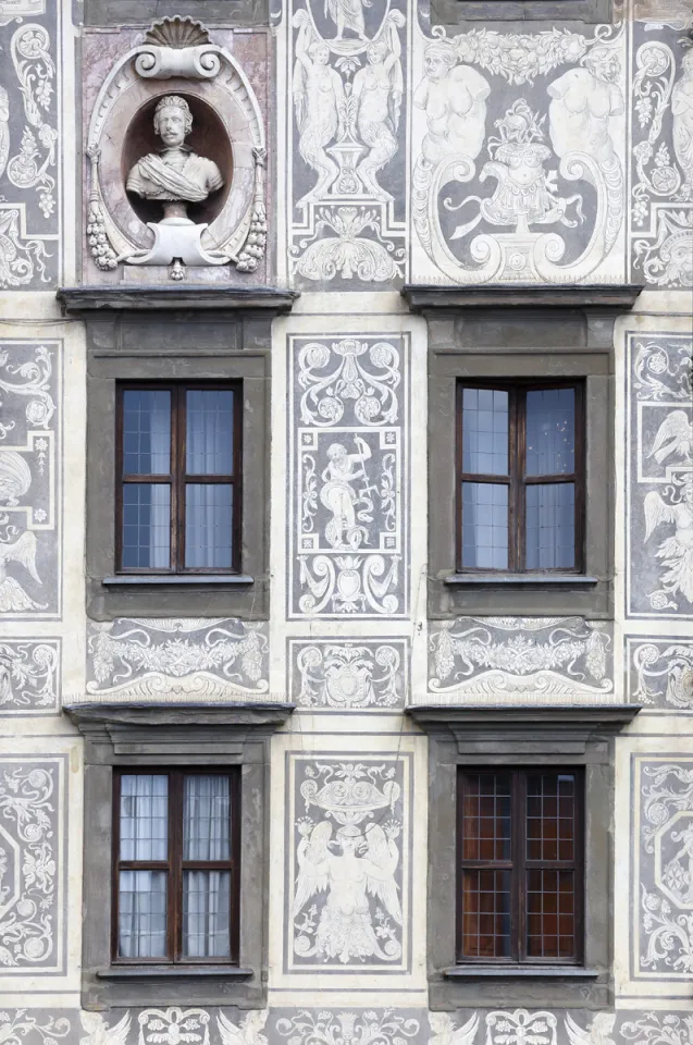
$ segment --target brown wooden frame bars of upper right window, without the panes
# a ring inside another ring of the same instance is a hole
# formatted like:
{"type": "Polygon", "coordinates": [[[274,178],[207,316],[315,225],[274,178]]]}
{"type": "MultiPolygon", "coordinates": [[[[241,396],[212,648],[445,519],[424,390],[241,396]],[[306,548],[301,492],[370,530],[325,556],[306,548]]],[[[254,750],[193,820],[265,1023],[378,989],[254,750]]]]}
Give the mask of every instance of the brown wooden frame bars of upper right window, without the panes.
{"type": "Polygon", "coordinates": [[[558,380],[467,380],[458,379],[456,397],[456,570],[458,574],[574,574],[584,573],[585,563],[585,395],[584,381],[558,380]],[[483,472],[462,471],[462,395],[465,389],[484,389],[508,393],[508,474],[492,476],[483,472]],[[525,474],[527,448],[527,393],[573,389],[576,395],[574,467],[572,474],[528,476],[525,474]],[[466,566],[462,563],[462,482],[488,483],[508,487],[508,565],[505,569],[487,566],[466,566]],[[554,566],[528,570],[525,566],[525,515],[527,488],[572,482],[574,484],[574,565],[554,566]]]}

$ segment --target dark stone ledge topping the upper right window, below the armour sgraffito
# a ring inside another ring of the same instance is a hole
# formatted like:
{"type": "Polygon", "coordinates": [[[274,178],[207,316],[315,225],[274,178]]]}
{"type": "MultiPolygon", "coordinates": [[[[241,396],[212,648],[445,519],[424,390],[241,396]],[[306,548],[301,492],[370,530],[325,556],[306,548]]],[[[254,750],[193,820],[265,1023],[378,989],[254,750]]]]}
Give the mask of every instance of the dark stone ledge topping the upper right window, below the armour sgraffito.
{"type": "Polygon", "coordinates": [[[406,283],[400,294],[412,312],[466,308],[594,308],[630,309],[644,283],[553,286],[545,283],[487,286],[443,286],[406,283]]]}

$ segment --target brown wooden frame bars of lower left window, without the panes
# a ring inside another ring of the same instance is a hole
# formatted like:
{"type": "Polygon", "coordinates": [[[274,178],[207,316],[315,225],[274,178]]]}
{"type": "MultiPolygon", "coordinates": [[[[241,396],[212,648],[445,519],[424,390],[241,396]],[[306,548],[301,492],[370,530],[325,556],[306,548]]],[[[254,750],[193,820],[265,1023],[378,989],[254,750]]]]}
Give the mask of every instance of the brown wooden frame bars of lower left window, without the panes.
{"type": "Polygon", "coordinates": [[[187,769],[124,766],[113,771],[113,852],[111,895],[111,960],[114,966],[237,966],[240,936],[240,767],[187,769]],[[161,860],[121,860],[121,780],[123,776],[168,776],[169,852],[161,860]],[[183,860],[183,778],[185,776],[225,776],[228,778],[230,857],[228,860],[183,860]],[[164,871],[166,873],[166,957],[123,958],[119,956],[120,872],[164,871]],[[183,956],[183,872],[230,871],[230,955],[225,958],[183,956]]]}

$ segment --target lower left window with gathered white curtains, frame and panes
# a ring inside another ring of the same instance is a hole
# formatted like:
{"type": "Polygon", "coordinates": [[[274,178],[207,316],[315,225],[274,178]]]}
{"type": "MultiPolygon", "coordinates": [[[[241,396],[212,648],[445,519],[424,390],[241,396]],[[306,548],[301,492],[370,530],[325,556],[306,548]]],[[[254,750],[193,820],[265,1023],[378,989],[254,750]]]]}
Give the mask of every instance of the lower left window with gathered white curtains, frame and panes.
{"type": "Polygon", "coordinates": [[[113,960],[236,962],[238,773],[114,783],[113,960]]]}

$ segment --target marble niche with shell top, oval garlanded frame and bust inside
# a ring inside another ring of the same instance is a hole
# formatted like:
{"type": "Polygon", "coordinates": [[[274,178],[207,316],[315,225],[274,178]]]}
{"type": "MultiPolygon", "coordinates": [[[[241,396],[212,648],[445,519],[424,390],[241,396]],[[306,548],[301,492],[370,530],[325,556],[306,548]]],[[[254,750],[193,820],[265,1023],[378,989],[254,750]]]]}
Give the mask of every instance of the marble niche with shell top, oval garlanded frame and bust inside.
{"type": "Polygon", "coordinates": [[[258,268],[267,245],[262,115],[243,69],[201,23],[156,22],[115,62],[86,152],[86,235],[100,271],[157,266],[180,282],[188,266],[258,268]]]}

